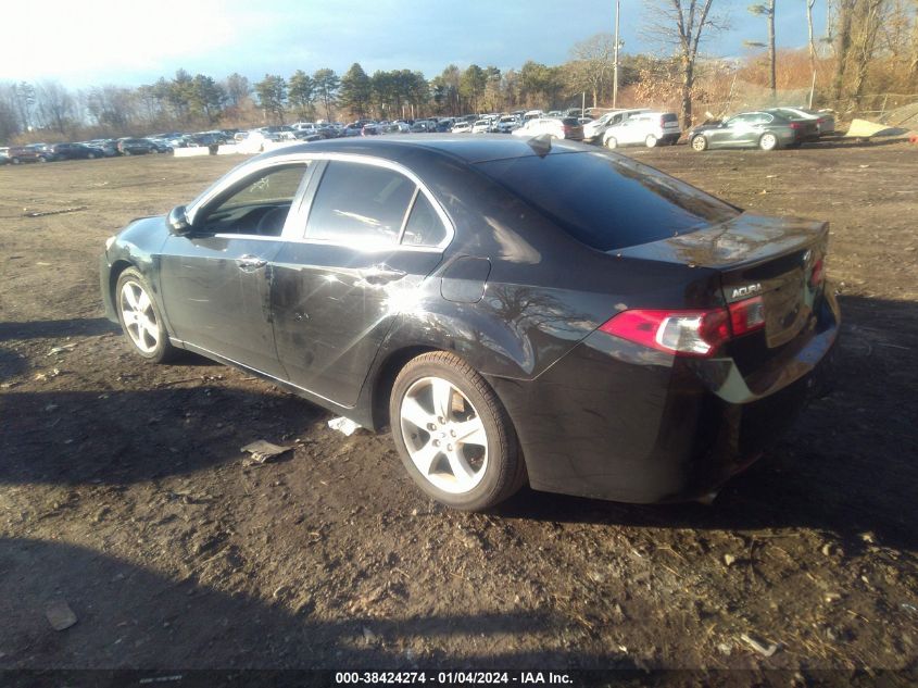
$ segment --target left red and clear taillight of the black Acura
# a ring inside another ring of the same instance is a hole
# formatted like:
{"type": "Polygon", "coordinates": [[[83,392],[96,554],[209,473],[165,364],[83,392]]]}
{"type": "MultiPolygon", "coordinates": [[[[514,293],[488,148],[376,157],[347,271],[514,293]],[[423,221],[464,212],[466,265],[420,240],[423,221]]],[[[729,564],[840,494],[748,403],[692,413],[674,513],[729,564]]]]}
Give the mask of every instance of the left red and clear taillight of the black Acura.
{"type": "Polygon", "coordinates": [[[657,351],[707,358],[733,337],[764,326],[765,304],[755,297],[703,311],[621,311],[600,329],[657,351]]]}

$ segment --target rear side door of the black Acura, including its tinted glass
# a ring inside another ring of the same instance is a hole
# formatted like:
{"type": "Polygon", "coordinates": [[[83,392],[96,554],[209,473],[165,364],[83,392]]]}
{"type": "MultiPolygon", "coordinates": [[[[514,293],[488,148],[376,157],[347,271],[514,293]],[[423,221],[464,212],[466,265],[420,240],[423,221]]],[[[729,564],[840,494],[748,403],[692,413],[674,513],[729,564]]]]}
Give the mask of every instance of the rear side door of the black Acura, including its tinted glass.
{"type": "Polygon", "coordinates": [[[453,230],[404,170],[341,159],[319,164],[303,239],[286,243],[275,260],[274,332],[290,381],[353,405],[393,318],[411,308],[453,230]]]}

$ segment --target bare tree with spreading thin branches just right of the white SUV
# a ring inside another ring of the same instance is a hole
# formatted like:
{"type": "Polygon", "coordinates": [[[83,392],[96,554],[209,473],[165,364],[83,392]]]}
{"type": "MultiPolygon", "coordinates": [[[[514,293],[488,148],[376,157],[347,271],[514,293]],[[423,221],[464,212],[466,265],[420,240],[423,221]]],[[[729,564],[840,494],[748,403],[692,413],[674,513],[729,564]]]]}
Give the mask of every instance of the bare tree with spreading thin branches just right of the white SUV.
{"type": "Polygon", "coordinates": [[[702,36],[726,28],[722,18],[712,14],[714,0],[657,0],[659,18],[652,20],[646,33],[658,42],[675,46],[681,72],[682,126],[692,125],[692,93],[695,86],[695,61],[702,36]]]}

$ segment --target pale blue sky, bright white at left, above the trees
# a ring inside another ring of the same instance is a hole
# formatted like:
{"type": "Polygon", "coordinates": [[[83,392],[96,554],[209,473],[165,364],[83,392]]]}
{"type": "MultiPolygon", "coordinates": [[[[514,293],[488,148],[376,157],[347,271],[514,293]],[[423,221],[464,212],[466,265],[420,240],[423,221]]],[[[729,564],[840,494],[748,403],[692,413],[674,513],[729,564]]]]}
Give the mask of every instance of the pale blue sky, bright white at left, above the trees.
{"type": "MultiPolygon", "coordinates": [[[[715,0],[731,29],[704,50],[746,53],[744,39],[765,40],[752,0],[715,0]]],[[[626,52],[658,52],[641,28],[654,0],[621,0],[626,52]]],[[[4,2],[0,80],[59,80],[71,88],[136,86],[179,67],[216,78],[331,67],[353,62],[367,73],[410,68],[432,78],[447,64],[502,70],[527,60],[559,64],[579,40],[613,30],[614,0],[42,0],[4,2]],[[40,7],[40,13],[36,10],[40,7]]],[[[778,0],[780,46],[806,45],[805,0],[778,0]]],[[[826,0],[816,9],[826,25],[826,0]]]]}

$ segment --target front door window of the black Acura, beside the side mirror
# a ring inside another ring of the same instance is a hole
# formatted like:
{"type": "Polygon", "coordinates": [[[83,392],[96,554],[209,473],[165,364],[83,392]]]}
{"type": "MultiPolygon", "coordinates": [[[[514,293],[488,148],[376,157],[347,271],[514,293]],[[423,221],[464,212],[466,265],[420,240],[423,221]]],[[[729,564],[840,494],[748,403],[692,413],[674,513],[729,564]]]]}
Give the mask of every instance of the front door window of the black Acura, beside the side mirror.
{"type": "Polygon", "coordinates": [[[303,163],[265,170],[249,177],[196,220],[203,232],[279,237],[303,180],[303,163]]]}

